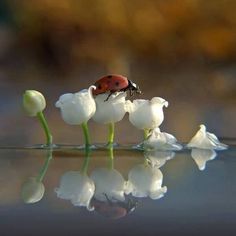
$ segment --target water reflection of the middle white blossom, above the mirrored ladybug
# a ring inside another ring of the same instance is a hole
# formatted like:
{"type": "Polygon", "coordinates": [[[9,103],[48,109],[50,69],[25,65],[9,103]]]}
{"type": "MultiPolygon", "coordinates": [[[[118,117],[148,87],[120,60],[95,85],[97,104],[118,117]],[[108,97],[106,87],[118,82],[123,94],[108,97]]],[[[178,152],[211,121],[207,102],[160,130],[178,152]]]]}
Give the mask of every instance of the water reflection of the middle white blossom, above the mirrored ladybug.
{"type": "Polygon", "coordinates": [[[98,168],[91,173],[96,189],[94,198],[99,201],[125,201],[126,182],[115,169],[98,168]]]}

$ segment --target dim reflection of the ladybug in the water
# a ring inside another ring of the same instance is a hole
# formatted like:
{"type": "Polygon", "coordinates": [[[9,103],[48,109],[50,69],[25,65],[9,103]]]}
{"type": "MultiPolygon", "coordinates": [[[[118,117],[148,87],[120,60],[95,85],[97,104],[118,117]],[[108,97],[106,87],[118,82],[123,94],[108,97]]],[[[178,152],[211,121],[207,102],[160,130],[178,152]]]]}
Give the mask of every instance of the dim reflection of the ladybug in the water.
{"type": "Polygon", "coordinates": [[[95,198],[91,201],[91,206],[95,208],[95,211],[99,214],[108,217],[110,219],[119,219],[130,212],[134,211],[137,207],[137,201],[128,199],[126,202],[116,201],[112,202],[106,194],[107,201],[99,201],[95,198]]]}

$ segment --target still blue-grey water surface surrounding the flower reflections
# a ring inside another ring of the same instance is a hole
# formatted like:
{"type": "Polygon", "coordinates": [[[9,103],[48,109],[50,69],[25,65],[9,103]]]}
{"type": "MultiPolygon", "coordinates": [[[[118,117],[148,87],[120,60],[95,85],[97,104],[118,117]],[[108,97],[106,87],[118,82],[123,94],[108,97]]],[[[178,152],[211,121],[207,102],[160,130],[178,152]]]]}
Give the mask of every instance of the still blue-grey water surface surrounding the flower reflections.
{"type": "MultiPolygon", "coordinates": [[[[57,197],[55,188],[63,173],[80,170],[84,160],[84,151],[72,147],[53,151],[43,179],[42,200],[25,204],[20,194],[22,184],[38,175],[47,160],[47,152],[34,148],[0,149],[1,235],[236,234],[234,145],[207,161],[204,170],[199,169],[203,169],[202,164],[197,165],[190,150],[174,153],[166,160],[162,156],[159,165],[167,192],[157,200],[129,195],[137,202],[135,210],[116,220],[57,197]]],[[[88,176],[97,168],[109,168],[108,156],[106,149],[93,150],[88,176]]],[[[113,168],[125,180],[134,166],[143,163],[141,151],[114,150],[113,168]]]]}

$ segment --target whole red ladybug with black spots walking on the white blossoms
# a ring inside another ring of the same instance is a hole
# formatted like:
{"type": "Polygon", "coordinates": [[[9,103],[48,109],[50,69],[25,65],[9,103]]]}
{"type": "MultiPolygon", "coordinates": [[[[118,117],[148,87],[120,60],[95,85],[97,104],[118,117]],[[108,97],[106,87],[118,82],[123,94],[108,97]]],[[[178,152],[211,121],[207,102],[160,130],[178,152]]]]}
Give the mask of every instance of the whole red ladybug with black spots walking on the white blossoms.
{"type": "Polygon", "coordinates": [[[133,96],[134,92],[141,94],[139,86],[122,75],[103,76],[96,81],[94,85],[96,86],[96,89],[93,90],[93,95],[109,92],[109,95],[105,101],[107,101],[115,92],[129,91],[130,96],[133,96]]]}

